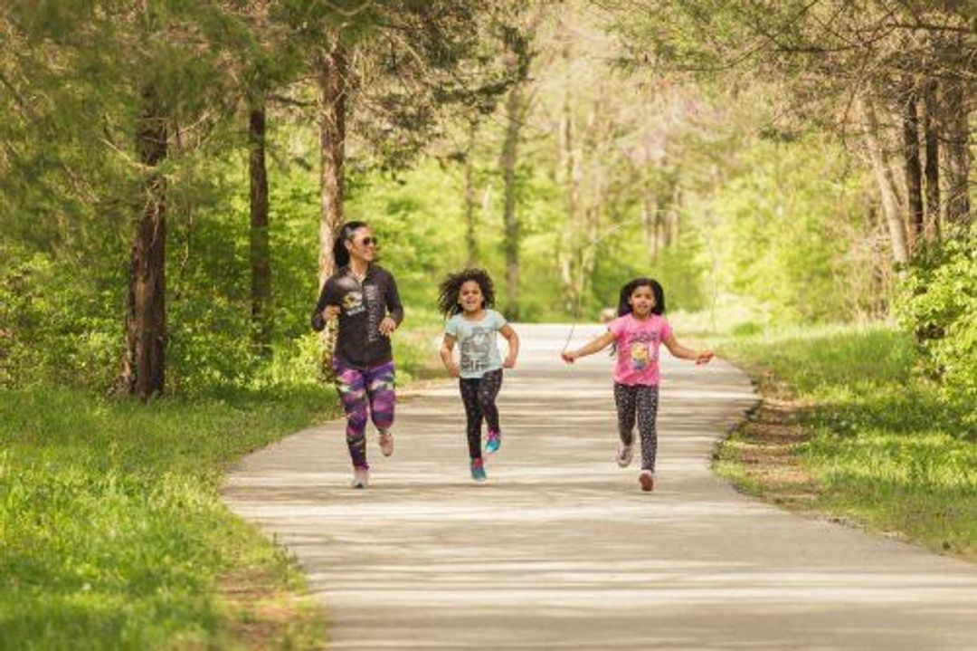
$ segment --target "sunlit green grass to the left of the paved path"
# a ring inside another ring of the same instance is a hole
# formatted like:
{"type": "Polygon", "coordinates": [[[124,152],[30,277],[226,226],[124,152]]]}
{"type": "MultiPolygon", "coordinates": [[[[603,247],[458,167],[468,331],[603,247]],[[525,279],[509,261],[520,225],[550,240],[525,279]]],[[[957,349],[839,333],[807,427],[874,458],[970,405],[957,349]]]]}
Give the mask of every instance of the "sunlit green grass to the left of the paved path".
{"type": "Polygon", "coordinates": [[[243,643],[232,631],[246,615],[219,595],[222,577],[270,575],[279,591],[301,579],[222,505],[221,478],[333,400],[315,385],[149,405],[0,393],[0,648],[243,643]]]}

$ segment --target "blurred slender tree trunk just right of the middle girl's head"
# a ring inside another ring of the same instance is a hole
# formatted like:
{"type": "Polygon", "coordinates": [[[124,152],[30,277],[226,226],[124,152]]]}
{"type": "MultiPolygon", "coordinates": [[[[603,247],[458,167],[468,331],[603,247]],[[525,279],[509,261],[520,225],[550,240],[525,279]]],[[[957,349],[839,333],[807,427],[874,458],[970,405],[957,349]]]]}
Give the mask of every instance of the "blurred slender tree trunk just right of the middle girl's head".
{"type": "Polygon", "coordinates": [[[505,253],[505,316],[506,319],[519,319],[519,219],[516,216],[516,163],[518,160],[519,137],[523,122],[523,82],[517,81],[506,101],[505,140],[502,143],[502,180],[505,188],[503,201],[503,240],[505,253]]]}

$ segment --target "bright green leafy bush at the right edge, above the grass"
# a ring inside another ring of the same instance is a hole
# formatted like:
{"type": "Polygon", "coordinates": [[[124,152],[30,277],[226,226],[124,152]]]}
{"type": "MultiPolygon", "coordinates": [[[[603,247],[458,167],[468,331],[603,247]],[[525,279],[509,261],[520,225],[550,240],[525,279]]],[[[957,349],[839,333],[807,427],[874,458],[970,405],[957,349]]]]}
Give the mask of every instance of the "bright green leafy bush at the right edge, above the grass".
{"type": "MultiPolygon", "coordinates": [[[[949,399],[977,403],[977,237],[952,239],[916,256],[897,302],[915,333],[920,366],[949,399]]],[[[977,424],[977,414],[971,414],[977,424]]]]}

